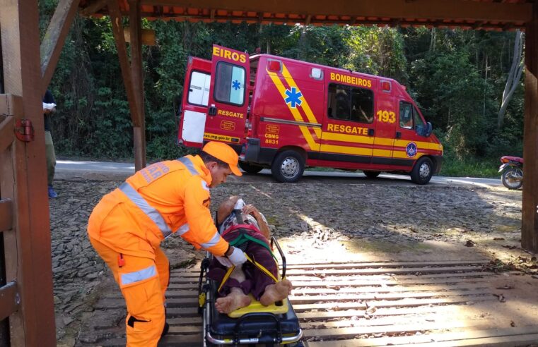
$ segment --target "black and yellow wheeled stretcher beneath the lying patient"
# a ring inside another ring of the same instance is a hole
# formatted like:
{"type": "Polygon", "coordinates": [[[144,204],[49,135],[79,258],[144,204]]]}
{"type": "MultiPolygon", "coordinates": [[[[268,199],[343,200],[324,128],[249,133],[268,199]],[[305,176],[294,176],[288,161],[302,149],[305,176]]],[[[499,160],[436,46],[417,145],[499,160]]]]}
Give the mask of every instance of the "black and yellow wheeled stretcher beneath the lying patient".
{"type": "MultiPolygon", "coordinates": [[[[279,278],[284,278],[286,257],[274,237],[271,237],[271,248],[279,250],[279,278]]],[[[206,276],[210,262],[211,255],[208,252],[201,262],[198,283],[204,346],[303,346],[300,341],[303,331],[287,298],[267,307],[252,298],[252,303],[245,308],[230,312],[229,315],[219,313],[215,308],[219,284],[206,276]]]]}

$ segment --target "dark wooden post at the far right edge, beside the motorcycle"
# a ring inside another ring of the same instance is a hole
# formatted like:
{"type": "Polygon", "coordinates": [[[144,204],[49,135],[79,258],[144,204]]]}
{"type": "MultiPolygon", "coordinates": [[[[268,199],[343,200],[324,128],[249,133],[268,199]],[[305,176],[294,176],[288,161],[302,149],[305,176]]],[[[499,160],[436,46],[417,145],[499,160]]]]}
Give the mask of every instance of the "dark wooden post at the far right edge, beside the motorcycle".
{"type": "Polygon", "coordinates": [[[538,4],[525,29],[525,128],[521,246],[538,252],[538,4]]]}

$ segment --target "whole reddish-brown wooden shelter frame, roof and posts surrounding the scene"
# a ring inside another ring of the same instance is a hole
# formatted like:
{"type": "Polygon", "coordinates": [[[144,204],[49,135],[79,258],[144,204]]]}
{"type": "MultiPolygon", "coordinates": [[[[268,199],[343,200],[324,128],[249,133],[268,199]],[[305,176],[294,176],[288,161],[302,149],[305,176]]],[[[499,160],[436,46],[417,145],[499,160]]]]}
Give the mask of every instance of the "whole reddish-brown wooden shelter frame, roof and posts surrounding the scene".
{"type": "Polygon", "coordinates": [[[56,344],[40,103],[77,13],[110,16],[137,170],[146,166],[142,18],[525,30],[521,243],[538,252],[538,0],[59,0],[42,42],[36,0],[0,0],[0,8],[0,345],[56,344]],[[130,55],[124,16],[129,17],[130,55]]]}

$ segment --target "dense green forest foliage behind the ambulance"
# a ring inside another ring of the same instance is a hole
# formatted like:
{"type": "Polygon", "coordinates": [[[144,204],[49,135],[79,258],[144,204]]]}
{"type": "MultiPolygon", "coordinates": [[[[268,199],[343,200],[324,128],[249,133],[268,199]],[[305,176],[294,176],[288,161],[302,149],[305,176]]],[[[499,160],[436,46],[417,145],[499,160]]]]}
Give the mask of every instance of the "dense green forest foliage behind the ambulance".
{"type": "MultiPolygon", "coordinates": [[[[40,1],[42,35],[56,5],[57,0],[40,1]]],[[[144,20],[143,26],[156,31],[156,46],[143,49],[151,159],[185,154],[176,145],[176,110],[187,59],[211,59],[214,43],[249,52],[259,47],[264,53],[398,80],[445,147],[443,173],[491,176],[487,168],[495,171],[498,157],[522,152],[522,83],[503,128],[496,127],[513,32],[160,20],[144,20]]],[[[133,156],[130,110],[109,18],[75,20],[49,89],[58,104],[52,127],[59,155],[133,156]]]]}

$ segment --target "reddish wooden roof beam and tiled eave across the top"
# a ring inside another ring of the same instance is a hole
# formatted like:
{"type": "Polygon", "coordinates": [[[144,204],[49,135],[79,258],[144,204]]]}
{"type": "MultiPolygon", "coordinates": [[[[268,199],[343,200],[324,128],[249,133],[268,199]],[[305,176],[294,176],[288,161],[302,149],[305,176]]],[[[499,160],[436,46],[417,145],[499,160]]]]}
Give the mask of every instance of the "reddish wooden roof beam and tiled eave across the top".
{"type": "MultiPolygon", "coordinates": [[[[81,14],[107,15],[104,3],[100,0],[81,0],[81,14]]],[[[122,13],[129,13],[129,1],[119,0],[119,9],[122,13]]],[[[291,25],[425,25],[428,28],[499,31],[525,29],[525,23],[532,14],[531,9],[532,1],[527,0],[141,1],[141,16],[150,20],[291,25]]]]}

